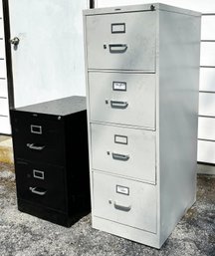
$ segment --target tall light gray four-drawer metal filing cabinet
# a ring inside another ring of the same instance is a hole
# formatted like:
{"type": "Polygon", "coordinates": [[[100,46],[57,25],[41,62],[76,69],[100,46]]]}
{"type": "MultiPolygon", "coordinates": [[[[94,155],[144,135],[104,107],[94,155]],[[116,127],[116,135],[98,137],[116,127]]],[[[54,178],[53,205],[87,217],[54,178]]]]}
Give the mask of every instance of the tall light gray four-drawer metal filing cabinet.
{"type": "Polygon", "coordinates": [[[195,201],[200,19],[84,11],[94,228],[160,248],[195,201]]]}

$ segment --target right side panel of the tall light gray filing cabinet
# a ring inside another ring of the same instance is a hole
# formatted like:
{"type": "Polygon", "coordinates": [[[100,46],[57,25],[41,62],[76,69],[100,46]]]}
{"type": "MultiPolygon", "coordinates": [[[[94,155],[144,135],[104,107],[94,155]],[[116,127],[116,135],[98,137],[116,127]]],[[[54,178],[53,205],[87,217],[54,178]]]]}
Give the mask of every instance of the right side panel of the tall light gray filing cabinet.
{"type": "Polygon", "coordinates": [[[195,201],[200,17],[160,11],[160,243],[195,201]]]}

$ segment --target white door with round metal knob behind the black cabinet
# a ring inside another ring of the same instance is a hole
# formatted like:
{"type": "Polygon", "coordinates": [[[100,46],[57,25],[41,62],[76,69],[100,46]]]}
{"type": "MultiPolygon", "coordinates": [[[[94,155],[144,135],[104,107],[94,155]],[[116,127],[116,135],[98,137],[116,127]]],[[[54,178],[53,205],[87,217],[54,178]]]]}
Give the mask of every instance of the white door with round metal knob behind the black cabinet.
{"type": "Polygon", "coordinates": [[[85,95],[88,0],[10,0],[15,107],[85,95]]]}

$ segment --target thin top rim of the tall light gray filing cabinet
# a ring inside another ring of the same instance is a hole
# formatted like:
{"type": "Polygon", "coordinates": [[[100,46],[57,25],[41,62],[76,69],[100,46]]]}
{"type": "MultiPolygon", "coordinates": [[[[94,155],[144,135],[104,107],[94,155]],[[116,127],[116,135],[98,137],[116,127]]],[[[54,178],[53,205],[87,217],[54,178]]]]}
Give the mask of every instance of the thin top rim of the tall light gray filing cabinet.
{"type": "Polygon", "coordinates": [[[83,14],[88,16],[88,15],[113,14],[113,13],[124,13],[124,12],[141,12],[141,11],[156,11],[156,10],[181,13],[181,14],[186,14],[186,15],[191,15],[191,16],[201,16],[201,13],[199,13],[199,12],[195,12],[192,10],[183,9],[183,8],[179,8],[179,7],[175,7],[175,6],[170,6],[170,5],[166,5],[166,4],[161,4],[161,3],[87,9],[87,10],[83,11],[83,14]]]}

